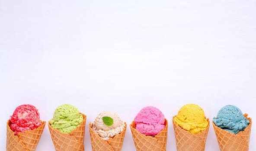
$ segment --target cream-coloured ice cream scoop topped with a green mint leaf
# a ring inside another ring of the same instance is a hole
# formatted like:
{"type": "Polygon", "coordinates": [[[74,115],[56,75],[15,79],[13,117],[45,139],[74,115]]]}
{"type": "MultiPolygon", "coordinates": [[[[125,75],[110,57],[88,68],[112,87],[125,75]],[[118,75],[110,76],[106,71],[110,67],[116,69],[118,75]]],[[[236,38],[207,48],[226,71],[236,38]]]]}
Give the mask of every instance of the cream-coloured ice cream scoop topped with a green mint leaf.
{"type": "Polygon", "coordinates": [[[120,119],[117,113],[113,111],[104,111],[99,113],[93,121],[92,129],[96,131],[104,140],[121,133],[125,128],[125,123],[120,119]]]}

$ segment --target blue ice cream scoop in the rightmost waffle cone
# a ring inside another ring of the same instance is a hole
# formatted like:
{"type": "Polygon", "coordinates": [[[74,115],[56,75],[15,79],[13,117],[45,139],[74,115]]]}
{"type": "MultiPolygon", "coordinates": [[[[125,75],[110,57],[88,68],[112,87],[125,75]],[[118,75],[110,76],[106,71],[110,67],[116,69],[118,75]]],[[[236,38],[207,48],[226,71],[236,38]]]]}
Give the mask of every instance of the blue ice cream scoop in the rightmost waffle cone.
{"type": "Polygon", "coordinates": [[[242,111],[234,105],[226,105],[219,110],[217,117],[213,118],[216,126],[228,132],[237,134],[243,131],[250,123],[244,116],[242,111]]]}

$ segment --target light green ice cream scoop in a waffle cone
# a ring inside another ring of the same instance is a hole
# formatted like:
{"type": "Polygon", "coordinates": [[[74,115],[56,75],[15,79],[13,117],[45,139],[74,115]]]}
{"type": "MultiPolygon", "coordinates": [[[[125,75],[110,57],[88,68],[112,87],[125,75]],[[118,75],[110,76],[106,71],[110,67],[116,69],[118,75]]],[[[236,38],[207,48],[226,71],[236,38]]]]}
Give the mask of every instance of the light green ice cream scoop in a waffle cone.
{"type": "Polygon", "coordinates": [[[51,127],[64,133],[70,133],[76,129],[83,121],[83,115],[79,110],[70,104],[63,104],[54,112],[53,119],[50,120],[51,127]]]}

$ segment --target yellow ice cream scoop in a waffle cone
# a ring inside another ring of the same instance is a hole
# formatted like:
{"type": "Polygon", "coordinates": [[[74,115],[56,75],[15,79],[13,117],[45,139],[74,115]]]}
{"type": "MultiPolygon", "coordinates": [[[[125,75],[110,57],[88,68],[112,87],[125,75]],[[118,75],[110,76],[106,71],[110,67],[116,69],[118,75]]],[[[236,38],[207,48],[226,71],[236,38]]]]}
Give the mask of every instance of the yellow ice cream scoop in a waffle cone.
{"type": "Polygon", "coordinates": [[[206,129],[208,121],[204,110],[196,104],[186,104],[180,108],[174,122],[182,129],[197,134],[206,129]]]}

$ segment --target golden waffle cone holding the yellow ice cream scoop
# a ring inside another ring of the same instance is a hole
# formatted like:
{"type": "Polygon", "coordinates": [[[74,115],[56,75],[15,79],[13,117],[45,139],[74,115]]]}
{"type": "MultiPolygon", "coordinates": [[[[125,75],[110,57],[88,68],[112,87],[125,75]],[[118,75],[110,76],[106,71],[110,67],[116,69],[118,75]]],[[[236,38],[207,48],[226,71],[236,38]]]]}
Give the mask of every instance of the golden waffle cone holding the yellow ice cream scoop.
{"type": "MultiPolygon", "coordinates": [[[[173,116],[174,119],[175,116],[173,116]]],[[[205,142],[210,127],[209,119],[208,126],[202,132],[193,134],[185,129],[182,129],[173,120],[173,129],[176,139],[177,151],[205,151],[205,142]]]]}

